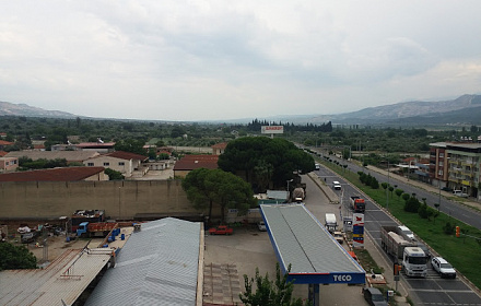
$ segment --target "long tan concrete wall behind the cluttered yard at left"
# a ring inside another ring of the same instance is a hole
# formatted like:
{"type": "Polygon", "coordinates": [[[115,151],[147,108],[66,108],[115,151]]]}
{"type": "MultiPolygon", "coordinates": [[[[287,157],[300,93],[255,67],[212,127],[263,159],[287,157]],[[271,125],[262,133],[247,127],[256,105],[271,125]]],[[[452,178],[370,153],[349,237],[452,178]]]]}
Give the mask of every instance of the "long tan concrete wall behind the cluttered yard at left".
{"type": "MultiPolygon", "coordinates": [[[[0,183],[0,219],[70,216],[75,210],[105,210],[112,219],[199,215],[180,180],[0,183]]],[[[213,213],[218,213],[214,209],[213,213]]],[[[206,212],[203,212],[207,214],[206,212]]]]}

